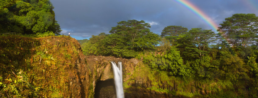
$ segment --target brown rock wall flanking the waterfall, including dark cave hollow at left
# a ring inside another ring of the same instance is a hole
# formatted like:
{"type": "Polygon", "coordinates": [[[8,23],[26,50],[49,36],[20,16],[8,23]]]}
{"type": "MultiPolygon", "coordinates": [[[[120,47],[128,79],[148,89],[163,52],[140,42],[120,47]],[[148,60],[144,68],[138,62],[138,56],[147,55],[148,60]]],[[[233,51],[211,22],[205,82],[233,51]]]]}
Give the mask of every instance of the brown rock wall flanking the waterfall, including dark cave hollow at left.
{"type": "Polygon", "coordinates": [[[128,76],[130,74],[126,74],[126,73],[132,73],[134,68],[138,64],[138,60],[136,59],[128,60],[128,59],[122,59],[122,58],[115,58],[112,56],[87,56],[86,61],[89,69],[91,70],[91,73],[93,73],[93,78],[92,78],[93,90],[95,89],[98,90],[97,92],[95,91],[95,94],[100,94],[95,97],[99,97],[99,98],[115,97],[114,74],[113,74],[111,61],[114,61],[116,64],[118,63],[118,61],[122,62],[123,77],[124,77],[123,81],[128,80],[128,76]],[[96,85],[97,82],[99,82],[98,85],[103,85],[103,86],[96,85]],[[109,83],[109,82],[113,82],[113,83],[109,83]],[[110,84],[111,86],[108,86],[108,87],[104,86],[104,85],[110,85],[110,84]],[[99,88],[95,88],[96,86],[99,88]],[[99,92],[101,91],[102,88],[103,89],[106,88],[107,91],[109,92],[105,91],[105,93],[102,94],[101,92],[99,92]]]}

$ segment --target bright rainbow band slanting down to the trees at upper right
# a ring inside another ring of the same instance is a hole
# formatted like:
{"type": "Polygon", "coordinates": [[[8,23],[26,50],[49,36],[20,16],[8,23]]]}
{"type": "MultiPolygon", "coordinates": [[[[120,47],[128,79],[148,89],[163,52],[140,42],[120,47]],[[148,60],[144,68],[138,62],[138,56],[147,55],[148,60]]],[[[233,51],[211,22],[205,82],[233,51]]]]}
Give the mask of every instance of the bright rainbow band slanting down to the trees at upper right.
{"type": "Polygon", "coordinates": [[[202,10],[200,10],[197,6],[191,4],[186,0],[175,0],[176,2],[180,3],[181,5],[185,6],[187,9],[194,12],[197,16],[199,16],[202,20],[204,20],[215,32],[218,29],[218,24],[216,24],[209,16],[207,16],[202,10]]]}

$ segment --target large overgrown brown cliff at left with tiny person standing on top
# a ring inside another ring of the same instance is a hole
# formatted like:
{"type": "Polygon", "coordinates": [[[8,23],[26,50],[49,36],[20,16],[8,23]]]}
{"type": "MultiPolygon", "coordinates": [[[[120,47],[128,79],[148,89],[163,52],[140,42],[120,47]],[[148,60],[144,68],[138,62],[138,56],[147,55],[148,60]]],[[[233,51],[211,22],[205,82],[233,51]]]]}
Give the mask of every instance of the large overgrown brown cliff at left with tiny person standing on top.
{"type": "Polygon", "coordinates": [[[0,36],[0,97],[93,96],[91,74],[69,36],[0,36]]]}

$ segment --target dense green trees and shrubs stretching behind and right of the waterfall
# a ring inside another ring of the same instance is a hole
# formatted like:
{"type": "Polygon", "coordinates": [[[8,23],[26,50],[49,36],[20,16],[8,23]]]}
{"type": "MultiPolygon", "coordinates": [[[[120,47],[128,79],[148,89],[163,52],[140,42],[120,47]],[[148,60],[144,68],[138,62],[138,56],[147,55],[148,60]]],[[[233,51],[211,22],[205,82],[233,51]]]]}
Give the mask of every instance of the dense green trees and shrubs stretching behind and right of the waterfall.
{"type": "Polygon", "coordinates": [[[139,89],[172,95],[257,98],[257,16],[234,14],[225,20],[218,34],[167,26],[161,37],[150,32],[143,20],[121,21],[111,34],[93,35],[82,49],[85,55],[143,60],[144,65],[124,82],[125,88],[138,78],[151,82],[149,87],[138,85],[139,89]]]}

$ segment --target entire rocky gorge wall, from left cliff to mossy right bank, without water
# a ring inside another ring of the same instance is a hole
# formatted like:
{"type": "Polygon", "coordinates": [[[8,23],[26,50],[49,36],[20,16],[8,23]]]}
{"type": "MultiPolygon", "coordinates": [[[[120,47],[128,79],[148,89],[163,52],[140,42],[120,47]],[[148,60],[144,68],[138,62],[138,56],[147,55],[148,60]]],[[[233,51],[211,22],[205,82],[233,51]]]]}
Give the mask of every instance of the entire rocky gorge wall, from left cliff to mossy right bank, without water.
{"type": "Polygon", "coordinates": [[[69,36],[0,39],[0,97],[115,98],[111,61],[122,62],[125,98],[210,97],[227,91],[224,81],[186,81],[153,70],[141,59],[85,56],[69,36]]]}

